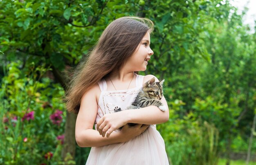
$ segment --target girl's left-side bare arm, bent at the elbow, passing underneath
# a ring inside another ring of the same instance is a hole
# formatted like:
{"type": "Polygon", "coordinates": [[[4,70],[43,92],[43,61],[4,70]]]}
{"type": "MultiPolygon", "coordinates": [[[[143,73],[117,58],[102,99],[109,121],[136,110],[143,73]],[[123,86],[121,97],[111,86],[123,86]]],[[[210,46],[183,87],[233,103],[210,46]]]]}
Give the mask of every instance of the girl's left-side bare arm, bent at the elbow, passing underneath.
{"type": "Polygon", "coordinates": [[[98,147],[113,143],[122,143],[138,136],[148,128],[148,125],[142,124],[136,125],[136,127],[124,125],[121,132],[112,133],[109,138],[102,137],[98,131],[92,129],[98,110],[97,93],[100,93],[98,85],[85,93],[81,99],[75,128],[76,143],[80,147],[98,147]]]}

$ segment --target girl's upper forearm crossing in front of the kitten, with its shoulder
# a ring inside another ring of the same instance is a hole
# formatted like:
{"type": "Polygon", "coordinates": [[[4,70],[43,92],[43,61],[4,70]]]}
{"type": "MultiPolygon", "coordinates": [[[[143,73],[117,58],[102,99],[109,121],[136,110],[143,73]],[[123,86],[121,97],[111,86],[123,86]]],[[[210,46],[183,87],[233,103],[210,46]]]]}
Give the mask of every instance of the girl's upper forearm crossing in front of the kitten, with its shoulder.
{"type": "MultiPolygon", "coordinates": [[[[147,75],[144,77],[144,83],[149,79],[153,78],[153,75],[147,75]]],[[[156,81],[158,79],[155,77],[156,81]]],[[[169,110],[168,105],[164,97],[162,97],[161,102],[166,106],[167,110],[162,111],[157,106],[148,106],[145,108],[135,109],[135,110],[124,110],[116,112],[113,114],[104,115],[97,122],[97,130],[102,137],[110,136],[110,134],[120,128],[122,125],[127,123],[139,123],[139,124],[160,124],[168,121],[169,110]]]]}

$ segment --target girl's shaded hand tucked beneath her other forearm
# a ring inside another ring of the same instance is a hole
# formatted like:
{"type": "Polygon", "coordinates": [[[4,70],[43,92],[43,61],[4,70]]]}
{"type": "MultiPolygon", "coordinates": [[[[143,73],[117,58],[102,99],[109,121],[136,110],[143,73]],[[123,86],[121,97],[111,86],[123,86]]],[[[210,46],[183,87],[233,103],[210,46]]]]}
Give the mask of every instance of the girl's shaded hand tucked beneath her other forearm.
{"type": "Polygon", "coordinates": [[[140,135],[148,127],[149,125],[146,124],[136,124],[135,126],[130,126],[128,124],[124,125],[122,130],[119,132],[121,136],[121,143],[129,141],[130,139],[140,135]]]}

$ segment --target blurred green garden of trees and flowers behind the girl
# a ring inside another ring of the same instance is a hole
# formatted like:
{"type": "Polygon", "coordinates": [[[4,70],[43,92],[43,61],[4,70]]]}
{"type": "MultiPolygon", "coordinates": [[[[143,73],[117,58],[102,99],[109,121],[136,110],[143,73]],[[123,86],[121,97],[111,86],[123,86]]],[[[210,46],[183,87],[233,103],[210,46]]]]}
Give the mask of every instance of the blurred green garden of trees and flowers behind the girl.
{"type": "Polygon", "coordinates": [[[165,79],[170,164],[256,164],[256,33],[231,0],[0,0],[0,164],[82,165],[62,98],[110,22],[155,24],[146,72],[165,79]],[[240,159],[236,161],[236,159],[240,159]]]}

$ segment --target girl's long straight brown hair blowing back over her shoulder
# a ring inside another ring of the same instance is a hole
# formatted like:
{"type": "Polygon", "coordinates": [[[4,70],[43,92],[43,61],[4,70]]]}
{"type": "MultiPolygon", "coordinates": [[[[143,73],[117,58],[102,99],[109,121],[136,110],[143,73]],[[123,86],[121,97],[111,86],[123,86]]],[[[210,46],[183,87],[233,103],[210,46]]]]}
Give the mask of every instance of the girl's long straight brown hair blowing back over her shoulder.
{"type": "Polygon", "coordinates": [[[67,111],[78,113],[84,93],[103,77],[120,70],[144,35],[153,31],[153,26],[151,20],[138,17],[122,17],[111,22],[88,59],[76,68],[65,96],[67,111]]]}

